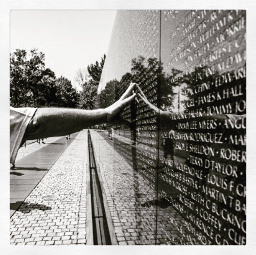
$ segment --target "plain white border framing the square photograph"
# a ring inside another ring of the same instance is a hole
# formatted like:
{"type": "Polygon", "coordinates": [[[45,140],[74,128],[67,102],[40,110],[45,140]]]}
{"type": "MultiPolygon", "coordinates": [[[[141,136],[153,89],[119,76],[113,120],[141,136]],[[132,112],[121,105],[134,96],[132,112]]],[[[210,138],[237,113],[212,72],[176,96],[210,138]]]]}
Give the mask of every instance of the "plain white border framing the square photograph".
{"type": "Polygon", "coordinates": [[[256,1],[254,0],[1,0],[0,8],[0,255],[251,255],[256,253],[256,1]],[[247,244],[245,246],[10,245],[9,54],[11,10],[242,9],[247,12],[247,244]]]}

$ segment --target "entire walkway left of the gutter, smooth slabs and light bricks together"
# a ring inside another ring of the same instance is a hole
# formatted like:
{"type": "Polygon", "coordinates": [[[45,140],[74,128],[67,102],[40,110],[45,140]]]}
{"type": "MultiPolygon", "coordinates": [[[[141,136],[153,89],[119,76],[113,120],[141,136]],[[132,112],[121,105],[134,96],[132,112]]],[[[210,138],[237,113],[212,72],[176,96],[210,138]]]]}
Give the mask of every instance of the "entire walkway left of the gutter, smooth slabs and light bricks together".
{"type": "Polygon", "coordinates": [[[11,244],[86,243],[87,131],[73,138],[30,153],[11,171],[11,244]]]}

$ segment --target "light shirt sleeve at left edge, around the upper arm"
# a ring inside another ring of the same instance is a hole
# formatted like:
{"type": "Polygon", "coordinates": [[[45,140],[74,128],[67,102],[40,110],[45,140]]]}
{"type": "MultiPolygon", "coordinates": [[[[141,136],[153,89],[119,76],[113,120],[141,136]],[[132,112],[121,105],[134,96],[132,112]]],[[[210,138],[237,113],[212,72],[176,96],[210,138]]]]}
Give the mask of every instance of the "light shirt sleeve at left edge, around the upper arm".
{"type": "Polygon", "coordinates": [[[37,108],[10,107],[10,163],[14,164],[26,128],[37,108]]]}

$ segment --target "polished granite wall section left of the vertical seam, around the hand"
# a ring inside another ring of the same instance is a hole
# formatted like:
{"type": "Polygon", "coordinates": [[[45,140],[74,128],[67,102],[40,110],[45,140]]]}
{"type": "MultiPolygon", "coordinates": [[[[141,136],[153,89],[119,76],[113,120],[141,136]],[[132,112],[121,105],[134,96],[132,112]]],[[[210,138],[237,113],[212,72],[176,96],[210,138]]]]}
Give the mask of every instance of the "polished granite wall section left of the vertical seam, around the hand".
{"type": "MultiPolygon", "coordinates": [[[[130,82],[140,84],[151,101],[156,103],[160,74],[159,56],[160,11],[118,11],[98,89],[99,106],[106,107],[119,99],[130,82]]],[[[157,208],[148,207],[145,202],[157,199],[156,113],[150,111],[147,105],[134,101],[124,110],[122,117],[132,122],[130,127],[109,127],[108,134],[99,133],[107,137],[115,152],[132,166],[130,176],[121,178],[124,183],[125,180],[132,180],[126,186],[118,182],[118,169],[122,162],[114,163],[113,204],[116,213],[123,215],[119,216],[123,224],[120,226],[114,223],[114,226],[116,229],[129,227],[134,230],[134,236],[130,238],[136,244],[155,244],[157,208]]],[[[125,238],[131,241],[128,236],[125,238]]]]}

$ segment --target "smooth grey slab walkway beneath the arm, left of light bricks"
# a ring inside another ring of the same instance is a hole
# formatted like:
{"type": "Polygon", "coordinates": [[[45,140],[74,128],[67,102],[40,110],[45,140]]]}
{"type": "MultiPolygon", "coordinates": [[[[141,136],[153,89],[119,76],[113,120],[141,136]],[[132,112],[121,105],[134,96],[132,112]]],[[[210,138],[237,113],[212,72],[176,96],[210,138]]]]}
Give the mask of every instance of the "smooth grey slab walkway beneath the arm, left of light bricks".
{"type": "MultiPolygon", "coordinates": [[[[72,135],[72,138],[76,136],[72,135]]],[[[10,217],[72,141],[65,137],[48,140],[47,144],[31,144],[26,149],[21,148],[17,155],[16,168],[10,170],[10,217]]]]}

